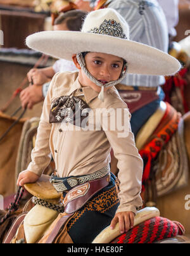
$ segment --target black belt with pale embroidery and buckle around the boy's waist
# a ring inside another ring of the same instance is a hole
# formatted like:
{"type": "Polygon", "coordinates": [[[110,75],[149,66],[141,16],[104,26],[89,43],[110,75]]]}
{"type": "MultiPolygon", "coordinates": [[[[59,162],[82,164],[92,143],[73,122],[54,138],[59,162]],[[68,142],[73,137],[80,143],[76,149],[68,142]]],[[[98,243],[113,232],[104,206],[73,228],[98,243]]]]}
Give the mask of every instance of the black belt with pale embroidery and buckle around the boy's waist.
{"type": "Polygon", "coordinates": [[[77,185],[84,184],[85,182],[94,181],[96,179],[101,179],[110,173],[110,164],[102,169],[94,172],[93,174],[88,174],[85,176],[70,176],[65,178],[60,178],[51,175],[49,181],[53,184],[54,188],[58,192],[69,191],[77,185]]]}

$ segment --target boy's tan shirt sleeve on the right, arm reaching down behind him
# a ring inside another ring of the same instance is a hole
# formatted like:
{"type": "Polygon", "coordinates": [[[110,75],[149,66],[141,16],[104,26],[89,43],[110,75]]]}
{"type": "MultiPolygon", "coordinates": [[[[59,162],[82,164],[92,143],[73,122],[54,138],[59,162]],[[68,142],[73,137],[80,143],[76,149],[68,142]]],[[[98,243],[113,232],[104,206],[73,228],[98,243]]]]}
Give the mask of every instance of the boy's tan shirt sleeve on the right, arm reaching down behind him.
{"type": "Polygon", "coordinates": [[[110,115],[103,117],[102,128],[118,160],[118,180],[120,182],[118,197],[120,205],[117,212],[131,211],[136,214],[137,210],[143,205],[140,195],[143,160],[136,148],[134,134],[131,132],[128,108],[124,108],[124,106],[122,108],[112,108],[110,115]],[[109,124],[111,124],[110,127],[109,124]]]}

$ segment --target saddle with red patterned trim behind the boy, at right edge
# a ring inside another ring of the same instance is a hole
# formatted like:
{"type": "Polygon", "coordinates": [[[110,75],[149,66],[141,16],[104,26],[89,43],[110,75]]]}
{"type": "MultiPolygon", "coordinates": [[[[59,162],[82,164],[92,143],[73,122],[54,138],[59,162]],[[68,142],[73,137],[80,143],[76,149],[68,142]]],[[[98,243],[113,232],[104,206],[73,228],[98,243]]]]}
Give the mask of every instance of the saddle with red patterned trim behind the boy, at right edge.
{"type": "Polygon", "coordinates": [[[187,186],[188,161],[184,146],[184,121],[172,106],[163,102],[160,104],[160,108],[137,134],[136,145],[144,160],[146,157],[143,151],[149,152],[149,155],[155,155],[149,163],[151,182],[148,193],[151,196],[147,195],[148,198],[146,198],[149,202],[155,202],[156,196],[167,195],[187,186]],[[168,140],[165,141],[167,136],[168,140]],[[160,147],[157,155],[156,147],[160,147]]]}

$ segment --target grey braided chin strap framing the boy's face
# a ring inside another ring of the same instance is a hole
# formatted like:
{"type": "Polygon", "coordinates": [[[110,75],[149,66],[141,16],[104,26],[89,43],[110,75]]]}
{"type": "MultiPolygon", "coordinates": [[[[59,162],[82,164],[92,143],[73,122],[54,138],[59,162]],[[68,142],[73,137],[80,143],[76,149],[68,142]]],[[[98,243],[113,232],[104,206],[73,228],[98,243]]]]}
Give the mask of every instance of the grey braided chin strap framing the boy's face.
{"type": "Polygon", "coordinates": [[[96,86],[101,87],[101,92],[98,95],[98,98],[104,102],[104,89],[106,87],[112,87],[112,86],[116,86],[117,84],[119,84],[127,75],[127,63],[124,65],[123,70],[122,70],[122,74],[120,75],[120,78],[118,80],[115,81],[111,81],[108,82],[107,84],[103,84],[101,82],[99,82],[95,77],[93,77],[91,75],[91,73],[87,70],[86,66],[85,66],[85,60],[84,57],[82,55],[82,53],[78,53],[77,54],[77,61],[80,65],[80,67],[82,68],[82,71],[84,72],[84,74],[92,81],[94,82],[94,84],[96,84],[96,86]]]}

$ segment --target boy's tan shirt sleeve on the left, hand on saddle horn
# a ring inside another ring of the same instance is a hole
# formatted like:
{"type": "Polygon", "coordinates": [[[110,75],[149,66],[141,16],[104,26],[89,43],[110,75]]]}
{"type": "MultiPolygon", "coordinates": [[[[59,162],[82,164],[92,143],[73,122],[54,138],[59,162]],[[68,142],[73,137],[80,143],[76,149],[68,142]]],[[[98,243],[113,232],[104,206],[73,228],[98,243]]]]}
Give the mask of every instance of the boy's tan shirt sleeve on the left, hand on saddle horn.
{"type": "Polygon", "coordinates": [[[31,159],[27,170],[34,172],[35,174],[41,176],[46,167],[51,162],[51,150],[49,148],[49,136],[51,132],[51,125],[49,124],[49,111],[51,108],[51,98],[52,98],[52,88],[56,75],[54,75],[53,80],[47,91],[47,96],[44,99],[44,105],[42,108],[41,120],[39,122],[39,127],[37,129],[37,138],[35,141],[35,148],[32,150],[31,159]]]}

